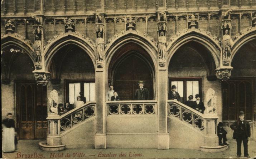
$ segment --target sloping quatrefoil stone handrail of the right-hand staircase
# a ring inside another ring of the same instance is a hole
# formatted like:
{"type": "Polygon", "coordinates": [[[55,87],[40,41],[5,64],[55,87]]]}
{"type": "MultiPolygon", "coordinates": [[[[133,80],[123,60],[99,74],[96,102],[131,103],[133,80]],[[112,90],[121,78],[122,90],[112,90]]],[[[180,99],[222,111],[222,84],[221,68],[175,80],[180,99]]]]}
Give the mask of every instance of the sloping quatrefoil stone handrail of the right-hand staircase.
{"type": "Polygon", "coordinates": [[[204,114],[175,100],[168,100],[167,104],[168,116],[177,117],[198,130],[204,130],[204,119],[206,118],[204,114]]]}

